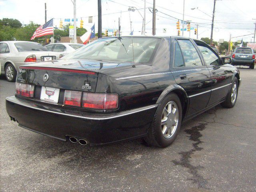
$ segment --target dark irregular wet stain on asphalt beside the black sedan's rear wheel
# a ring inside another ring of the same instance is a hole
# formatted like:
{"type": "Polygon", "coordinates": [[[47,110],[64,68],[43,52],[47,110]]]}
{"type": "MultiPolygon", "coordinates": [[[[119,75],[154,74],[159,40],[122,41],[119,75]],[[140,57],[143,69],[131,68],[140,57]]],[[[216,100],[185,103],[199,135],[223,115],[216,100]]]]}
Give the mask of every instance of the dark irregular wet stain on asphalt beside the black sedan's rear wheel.
{"type": "Polygon", "coordinates": [[[198,145],[203,143],[200,140],[200,137],[202,136],[200,131],[204,130],[206,128],[206,125],[207,125],[206,123],[200,123],[198,126],[193,126],[190,129],[184,130],[187,134],[190,134],[189,140],[194,141],[194,143],[192,145],[193,148],[190,149],[189,151],[179,152],[179,154],[181,155],[180,160],[179,161],[172,160],[172,162],[175,165],[180,165],[184,168],[188,168],[188,172],[190,174],[192,174],[192,178],[190,178],[189,180],[191,180],[193,183],[196,183],[198,185],[198,188],[209,189],[209,188],[206,188],[206,184],[208,183],[208,181],[198,173],[198,170],[202,169],[204,167],[200,166],[200,165],[193,166],[190,162],[191,155],[194,154],[194,152],[200,151],[203,149],[202,147],[199,147],[198,145]]]}

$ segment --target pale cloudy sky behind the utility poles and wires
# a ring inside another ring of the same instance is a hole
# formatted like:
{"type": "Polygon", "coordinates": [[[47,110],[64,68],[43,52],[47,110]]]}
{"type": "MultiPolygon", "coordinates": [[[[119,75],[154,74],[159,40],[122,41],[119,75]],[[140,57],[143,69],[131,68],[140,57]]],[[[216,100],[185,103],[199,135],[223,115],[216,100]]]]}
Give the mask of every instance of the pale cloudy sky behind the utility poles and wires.
{"type": "MultiPolygon", "coordinates": [[[[33,21],[44,24],[44,3],[47,4],[47,20],[54,18],[54,26],[59,26],[60,19],[73,18],[73,4],[71,0],[0,0],[0,18],[14,18],[22,24],[33,21]]],[[[184,20],[191,21],[191,27],[198,24],[198,38],[210,38],[212,11],[214,0],[185,0],[184,20]],[[192,10],[192,8],[195,8],[192,10]]],[[[146,0],[146,34],[152,34],[152,8],[153,0],[146,0]]],[[[90,29],[93,24],[88,23],[88,16],[93,16],[95,31],[98,31],[97,0],[76,0],[77,26],[80,19],[84,20],[84,28],[90,29]]],[[[253,41],[256,22],[256,0],[216,0],[214,14],[213,39],[253,41]],[[252,19],[255,20],[252,20],[252,19]],[[234,37],[234,38],[233,38],[234,37]]],[[[156,0],[156,35],[177,35],[176,22],[182,20],[183,0],[156,0]],[[166,33],[164,33],[166,29],[166,33]]],[[[144,16],[144,0],[102,0],[102,32],[105,29],[118,29],[118,17],[122,35],[141,34],[144,16]],[[128,11],[129,6],[138,10],[128,11]],[[142,16],[141,16],[141,15],[142,16]],[[130,26],[130,21],[132,25],[130,26]]],[[[64,22],[66,24],[66,22],[64,22]]],[[[182,26],[182,25],[180,25],[182,26]]],[[[184,31],[184,36],[189,32],[184,31]]],[[[191,38],[196,38],[194,30],[190,32],[191,38]]]]}

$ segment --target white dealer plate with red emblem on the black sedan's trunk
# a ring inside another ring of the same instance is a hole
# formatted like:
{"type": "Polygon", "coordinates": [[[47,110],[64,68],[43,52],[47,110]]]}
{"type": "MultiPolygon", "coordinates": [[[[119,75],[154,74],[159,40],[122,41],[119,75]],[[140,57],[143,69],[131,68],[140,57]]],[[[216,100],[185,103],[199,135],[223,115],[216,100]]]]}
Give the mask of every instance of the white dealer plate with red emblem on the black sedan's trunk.
{"type": "Polygon", "coordinates": [[[60,94],[60,89],[58,88],[42,86],[40,100],[58,103],[59,94],[60,94]]]}

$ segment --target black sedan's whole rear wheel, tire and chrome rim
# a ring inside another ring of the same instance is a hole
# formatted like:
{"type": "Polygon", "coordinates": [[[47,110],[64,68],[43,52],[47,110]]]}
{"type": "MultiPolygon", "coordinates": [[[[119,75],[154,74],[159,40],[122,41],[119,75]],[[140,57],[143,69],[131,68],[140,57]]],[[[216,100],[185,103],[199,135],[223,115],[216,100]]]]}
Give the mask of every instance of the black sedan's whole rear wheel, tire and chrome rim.
{"type": "Polygon", "coordinates": [[[150,146],[167,147],[178,136],[181,121],[182,106],[180,99],[176,94],[170,93],[159,104],[152,125],[144,139],[150,146]],[[174,112],[175,109],[176,112],[174,112]],[[164,119],[166,120],[164,121],[164,119]],[[163,133],[164,130],[167,130],[165,134],[163,133]]]}

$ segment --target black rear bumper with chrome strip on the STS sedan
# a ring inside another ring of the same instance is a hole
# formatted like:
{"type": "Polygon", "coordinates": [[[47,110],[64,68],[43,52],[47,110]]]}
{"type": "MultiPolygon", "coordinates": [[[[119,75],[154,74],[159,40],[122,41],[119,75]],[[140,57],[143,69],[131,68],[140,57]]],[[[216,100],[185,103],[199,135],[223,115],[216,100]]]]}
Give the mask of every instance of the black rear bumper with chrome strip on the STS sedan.
{"type": "Polygon", "coordinates": [[[144,136],[157,105],[115,114],[97,114],[52,107],[11,96],[6,110],[19,126],[66,141],[68,136],[84,138],[92,145],[108,144],[144,136]]]}

